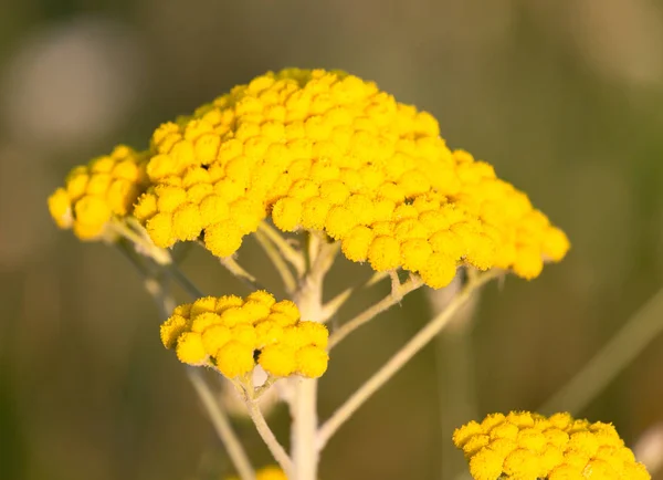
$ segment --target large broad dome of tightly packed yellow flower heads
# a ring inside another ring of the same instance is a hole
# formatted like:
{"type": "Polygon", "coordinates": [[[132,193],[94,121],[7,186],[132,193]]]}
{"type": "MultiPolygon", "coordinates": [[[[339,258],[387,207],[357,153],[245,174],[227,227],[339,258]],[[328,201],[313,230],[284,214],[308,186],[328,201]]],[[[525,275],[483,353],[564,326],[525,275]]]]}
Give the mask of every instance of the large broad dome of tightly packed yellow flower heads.
{"type": "Polygon", "coordinates": [[[532,279],[569,248],[491,165],[449,149],[430,114],[343,72],[259,76],[161,125],[146,155],[131,213],[161,248],[200,238],[228,257],[271,217],[432,288],[460,264],[532,279]]]}

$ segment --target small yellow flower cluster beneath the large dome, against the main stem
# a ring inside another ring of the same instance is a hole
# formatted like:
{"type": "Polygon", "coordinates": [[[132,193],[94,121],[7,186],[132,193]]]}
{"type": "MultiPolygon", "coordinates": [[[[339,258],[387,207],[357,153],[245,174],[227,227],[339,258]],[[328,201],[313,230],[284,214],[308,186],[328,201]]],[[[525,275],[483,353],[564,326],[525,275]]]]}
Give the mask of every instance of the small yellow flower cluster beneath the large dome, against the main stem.
{"type": "Polygon", "coordinates": [[[274,377],[317,378],[327,369],[327,338],[325,325],[301,321],[293,302],[262,290],[245,299],[198,299],[161,325],[164,346],[181,362],[215,367],[228,378],[253,371],[255,359],[274,377]]]}

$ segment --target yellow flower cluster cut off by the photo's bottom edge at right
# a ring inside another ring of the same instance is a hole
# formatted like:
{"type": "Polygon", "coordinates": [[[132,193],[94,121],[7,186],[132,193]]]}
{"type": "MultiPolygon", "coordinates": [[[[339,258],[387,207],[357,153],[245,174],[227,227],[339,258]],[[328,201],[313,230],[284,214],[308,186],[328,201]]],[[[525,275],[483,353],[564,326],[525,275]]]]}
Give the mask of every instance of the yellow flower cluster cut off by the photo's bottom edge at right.
{"type": "Polygon", "coordinates": [[[488,415],[456,429],[453,442],[475,480],[648,480],[611,424],[528,411],[488,415]]]}

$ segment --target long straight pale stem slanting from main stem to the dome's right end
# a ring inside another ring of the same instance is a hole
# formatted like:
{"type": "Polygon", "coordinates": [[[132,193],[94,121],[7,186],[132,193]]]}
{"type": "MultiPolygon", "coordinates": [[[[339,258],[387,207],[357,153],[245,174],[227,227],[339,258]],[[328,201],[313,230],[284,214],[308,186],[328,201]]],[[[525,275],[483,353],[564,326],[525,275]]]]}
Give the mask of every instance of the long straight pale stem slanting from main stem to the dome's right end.
{"type": "Polygon", "coordinates": [[[454,313],[465,304],[472,292],[480,285],[495,276],[487,272],[469,281],[462,291],[446,305],[446,309],[436,315],[417,335],[414,335],[400,351],[398,351],[378,372],[359,387],[333,415],[323,424],[317,432],[317,448],[322,450],[327,441],[336,434],[357,409],[364,405],[378,389],[380,389],[403,365],[406,365],[421,348],[440,333],[453,317],[454,313]]]}

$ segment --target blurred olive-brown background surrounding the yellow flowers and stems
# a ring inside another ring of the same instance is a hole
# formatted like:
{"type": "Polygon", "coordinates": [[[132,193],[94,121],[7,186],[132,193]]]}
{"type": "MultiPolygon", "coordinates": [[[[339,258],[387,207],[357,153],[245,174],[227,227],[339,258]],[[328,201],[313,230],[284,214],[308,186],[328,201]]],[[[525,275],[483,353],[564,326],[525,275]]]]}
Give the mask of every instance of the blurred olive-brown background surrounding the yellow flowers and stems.
{"type": "MultiPolygon", "coordinates": [[[[339,431],[320,477],[462,478],[454,427],[546,404],[635,325],[645,333],[634,358],[570,408],[613,421],[663,479],[655,0],[3,1],[0,478],[211,480],[232,471],[183,369],[159,344],[137,272],[113,248],[57,231],[45,198],[74,165],[119,142],[143,148],[160,122],[283,66],[347,70],[432,112],[450,145],[493,163],[573,244],[540,279],[485,289],[472,314],[339,431]]],[[[262,264],[251,242],[241,259],[262,264]]],[[[209,292],[243,292],[203,252],[190,252],[183,268],[209,292]]],[[[330,289],[361,275],[340,264],[330,289]]],[[[345,313],[386,291],[362,292],[345,313]]],[[[322,382],[320,414],[429,315],[417,292],[344,343],[322,382]]],[[[554,406],[569,408],[559,398],[554,406]]],[[[266,462],[253,427],[235,421],[266,462]]],[[[270,421],[285,438],[286,409],[270,421]]]]}

